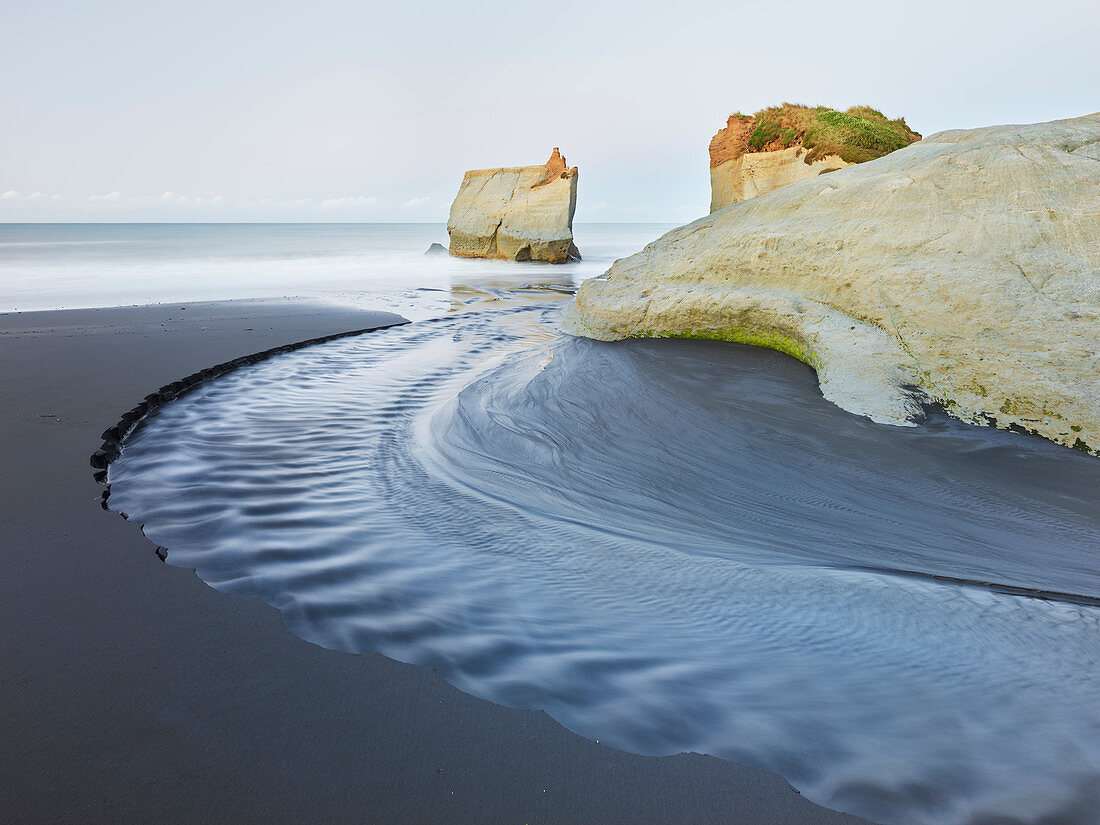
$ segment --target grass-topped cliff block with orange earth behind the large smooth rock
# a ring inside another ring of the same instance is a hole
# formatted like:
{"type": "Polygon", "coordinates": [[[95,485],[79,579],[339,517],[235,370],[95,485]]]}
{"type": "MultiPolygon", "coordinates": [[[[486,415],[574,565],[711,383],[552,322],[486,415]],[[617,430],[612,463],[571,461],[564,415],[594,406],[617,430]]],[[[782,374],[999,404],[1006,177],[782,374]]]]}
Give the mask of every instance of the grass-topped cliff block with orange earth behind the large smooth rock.
{"type": "Polygon", "coordinates": [[[711,139],[711,211],[881,157],[921,135],[869,107],[838,112],[784,103],[730,114],[711,139]]]}

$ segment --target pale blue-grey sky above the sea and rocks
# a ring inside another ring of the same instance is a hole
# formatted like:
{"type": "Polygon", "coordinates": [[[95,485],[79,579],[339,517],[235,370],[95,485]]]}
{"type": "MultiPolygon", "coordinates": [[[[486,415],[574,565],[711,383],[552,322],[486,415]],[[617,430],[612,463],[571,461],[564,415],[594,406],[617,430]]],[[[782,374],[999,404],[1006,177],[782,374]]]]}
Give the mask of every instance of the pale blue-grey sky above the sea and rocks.
{"type": "Polygon", "coordinates": [[[710,204],[733,111],[930,135],[1100,110],[1100,2],[0,0],[0,221],[444,221],[580,167],[578,221],[710,204]]]}

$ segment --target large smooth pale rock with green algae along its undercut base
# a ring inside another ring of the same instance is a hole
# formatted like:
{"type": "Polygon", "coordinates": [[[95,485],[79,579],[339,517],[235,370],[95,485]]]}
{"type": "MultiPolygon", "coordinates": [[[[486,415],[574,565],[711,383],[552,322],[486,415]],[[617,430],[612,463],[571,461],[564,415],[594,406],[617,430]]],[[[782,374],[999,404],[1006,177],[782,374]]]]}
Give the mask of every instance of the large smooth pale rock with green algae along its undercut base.
{"type": "Polygon", "coordinates": [[[669,232],[566,328],[762,344],[826,398],[1100,448],[1100,113],[943,132],[669,232]],[[913,391],[906,387],[913,387],[913,391]]]}

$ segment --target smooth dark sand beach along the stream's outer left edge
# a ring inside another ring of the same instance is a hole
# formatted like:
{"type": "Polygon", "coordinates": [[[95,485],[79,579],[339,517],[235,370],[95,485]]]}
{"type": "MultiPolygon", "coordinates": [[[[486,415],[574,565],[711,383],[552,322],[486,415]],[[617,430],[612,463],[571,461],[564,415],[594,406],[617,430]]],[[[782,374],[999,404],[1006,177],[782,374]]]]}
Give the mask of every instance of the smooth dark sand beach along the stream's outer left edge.
{"type": "Polygon", "coordinates": [[[776,774],[622,754],[427,669],[306,644],[101,509],[88,457],[146,394],[396,320],[284,301],[0,315],[6,821],[861,822],[776,774]]]}

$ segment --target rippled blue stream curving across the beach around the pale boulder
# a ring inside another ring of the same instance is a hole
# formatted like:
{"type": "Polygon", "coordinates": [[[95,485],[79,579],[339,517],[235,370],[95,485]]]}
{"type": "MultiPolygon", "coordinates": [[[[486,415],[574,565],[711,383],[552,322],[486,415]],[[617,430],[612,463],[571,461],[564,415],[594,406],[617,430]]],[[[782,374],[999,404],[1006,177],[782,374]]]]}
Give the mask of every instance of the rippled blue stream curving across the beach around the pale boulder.
{"type": "Polygon", "coordinates": [[[162,408],[112,507],[302,638],[627,750],[888,823],[1094,822],[1100,461],[877,426],[779,353],[562,338],[559,304],[505,297],[162,408]]]}

